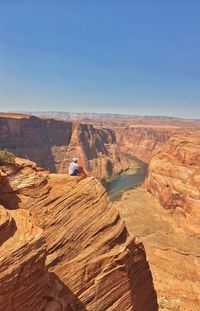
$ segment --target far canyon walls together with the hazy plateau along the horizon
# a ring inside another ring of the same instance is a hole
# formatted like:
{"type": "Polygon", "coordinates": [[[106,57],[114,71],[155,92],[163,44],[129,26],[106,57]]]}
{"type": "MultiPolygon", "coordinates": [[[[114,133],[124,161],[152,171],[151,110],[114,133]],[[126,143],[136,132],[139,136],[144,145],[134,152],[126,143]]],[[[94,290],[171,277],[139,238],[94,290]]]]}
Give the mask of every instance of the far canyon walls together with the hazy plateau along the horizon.
{"type": "Polygon", "coordinates": [[[55,173],[66,173],[72,157],[89,174],[109,178],[134,158],[149,163],[152,154],[177,132],[198,129],[199,120],[169,117],[35,112],[0,114],[0,148],[55,173]]]}

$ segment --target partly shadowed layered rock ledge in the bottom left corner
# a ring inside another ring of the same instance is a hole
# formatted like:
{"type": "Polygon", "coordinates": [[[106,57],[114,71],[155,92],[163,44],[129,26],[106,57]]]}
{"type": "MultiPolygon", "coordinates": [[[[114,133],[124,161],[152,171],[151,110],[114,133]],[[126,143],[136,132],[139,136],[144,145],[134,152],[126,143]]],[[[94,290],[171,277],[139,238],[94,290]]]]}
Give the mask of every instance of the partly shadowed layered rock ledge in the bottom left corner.
{"type": "Polygon", "coordinates": [[[45,260],[45,239],[30,213],[0,206],[1,310],[70,311],[45,260]]]}

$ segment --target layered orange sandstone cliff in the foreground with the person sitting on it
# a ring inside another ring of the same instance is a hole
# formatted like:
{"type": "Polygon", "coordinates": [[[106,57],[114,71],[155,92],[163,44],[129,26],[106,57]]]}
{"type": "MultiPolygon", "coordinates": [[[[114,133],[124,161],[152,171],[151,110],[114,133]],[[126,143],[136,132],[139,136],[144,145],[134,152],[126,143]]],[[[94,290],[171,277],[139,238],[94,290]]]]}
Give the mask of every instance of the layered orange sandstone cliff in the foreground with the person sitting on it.
{"type": "Polygon", "coordinates": [[[157,310],[143,245],[128,235],[95,178],[49,174],[20,159],[2,172],[1,306],[157,310]]]}

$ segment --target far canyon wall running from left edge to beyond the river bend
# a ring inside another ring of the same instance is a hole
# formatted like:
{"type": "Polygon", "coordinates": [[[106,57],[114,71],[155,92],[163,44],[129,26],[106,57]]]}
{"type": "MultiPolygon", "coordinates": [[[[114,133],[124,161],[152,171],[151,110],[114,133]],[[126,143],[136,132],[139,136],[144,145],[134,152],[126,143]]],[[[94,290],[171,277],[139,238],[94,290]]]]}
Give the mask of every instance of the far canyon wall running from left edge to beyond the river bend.
{"type": "Polygon", "coordinates": [[[65,173],[73,157],[100,179],[128,168],[134,157],[149,162],[174,128],[111,127],[90,123],[0,115],[0,148],[35,161],[51,172],[65,173]]]}

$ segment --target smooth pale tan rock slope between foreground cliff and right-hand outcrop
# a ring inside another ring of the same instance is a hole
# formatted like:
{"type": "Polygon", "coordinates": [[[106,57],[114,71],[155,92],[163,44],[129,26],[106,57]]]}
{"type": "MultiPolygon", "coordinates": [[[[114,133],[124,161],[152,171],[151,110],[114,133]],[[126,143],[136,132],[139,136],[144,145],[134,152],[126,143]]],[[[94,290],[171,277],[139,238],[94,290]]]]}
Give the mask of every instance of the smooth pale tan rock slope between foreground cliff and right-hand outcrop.
{"type": "Polygon", "coordinates": [[[200,306],[200,240],[179,227],[170,210],[142,188],[115,203],[128,231],[145,246],[160,311],[200,306]]]}

